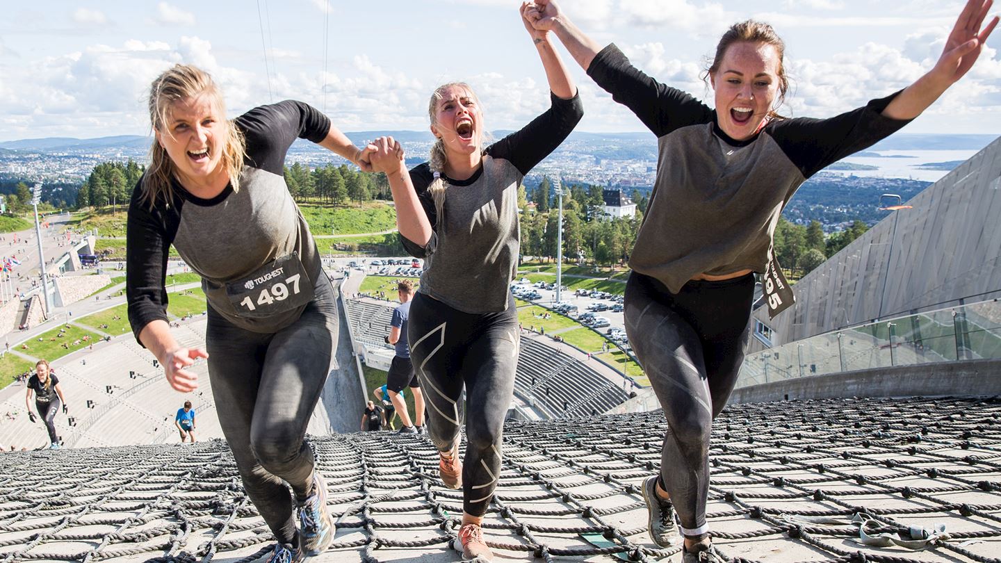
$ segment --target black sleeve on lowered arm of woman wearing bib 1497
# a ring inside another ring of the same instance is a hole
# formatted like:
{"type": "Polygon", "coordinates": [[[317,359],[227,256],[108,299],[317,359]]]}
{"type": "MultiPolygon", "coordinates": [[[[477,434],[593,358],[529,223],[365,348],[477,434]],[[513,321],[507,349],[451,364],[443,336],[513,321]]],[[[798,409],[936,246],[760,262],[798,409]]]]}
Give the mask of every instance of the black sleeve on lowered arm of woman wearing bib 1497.
{"type": "Polygon", "coordinates": [[[157,201],[152,209],[142,199],[142,179],[132,190],[128,206],[125,240],[125,296],[128,322],[136,342],[151,321],[167,321],[167,290],[164,287],[170,243],[180,223],[180,198],[175,205],[157,201]]]}

